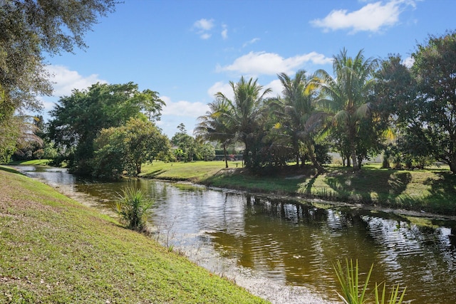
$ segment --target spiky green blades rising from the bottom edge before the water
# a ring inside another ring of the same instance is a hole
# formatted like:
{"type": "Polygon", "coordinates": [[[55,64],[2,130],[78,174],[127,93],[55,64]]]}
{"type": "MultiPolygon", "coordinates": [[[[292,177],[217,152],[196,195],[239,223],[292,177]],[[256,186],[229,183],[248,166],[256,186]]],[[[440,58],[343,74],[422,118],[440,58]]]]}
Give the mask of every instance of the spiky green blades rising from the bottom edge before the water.
{"type": "MultiPolygon", "coordinates": [[[[368,283],[369,279],[371,278],[371,273],[373,270],[373,265],[371,269],[368,271],[366,276],[366,281],[364,281],[363,285],[359,283],[359,276],[358,276],[358,260],[353,265],[353,261],[346,259],[346,268],[343,269],[342,264],[340,261],[337,261],[336,265],[334,266],[334,271],[336,271],[336,276],[338,278],[339,283],[341,284],[342,294],[337,293],[343,303],[345,304],[363,304],[363,303],[372,303],[368,302],[368,298],[366,292],[368,291],[368,283]]],[[[380,284],[381,285],[381,284],[380,284]]],[[[375,304],[401,304],[403,302],[403,298],[405,295],[405,289],[402,293],[399,293],[399,284],[393,285],[393,288],[390,292],[389,298],[386,298],[386,283],[383,283],[383,290],[381,290],[381,294],[379,293],[379,285],[375,283],[374,294],[375,294],[375,304]]]]}

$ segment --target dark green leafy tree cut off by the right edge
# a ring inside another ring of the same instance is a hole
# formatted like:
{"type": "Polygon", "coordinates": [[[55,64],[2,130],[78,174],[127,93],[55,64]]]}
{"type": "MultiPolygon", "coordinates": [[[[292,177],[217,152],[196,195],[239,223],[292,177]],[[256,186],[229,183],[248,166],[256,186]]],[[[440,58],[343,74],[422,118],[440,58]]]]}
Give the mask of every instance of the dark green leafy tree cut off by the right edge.
{"type": "Polygon", "coordinates": [[[456,173],[456,32],[430,36],[412,58],[417,82],[414,114],[435,159],[456,173]]]}

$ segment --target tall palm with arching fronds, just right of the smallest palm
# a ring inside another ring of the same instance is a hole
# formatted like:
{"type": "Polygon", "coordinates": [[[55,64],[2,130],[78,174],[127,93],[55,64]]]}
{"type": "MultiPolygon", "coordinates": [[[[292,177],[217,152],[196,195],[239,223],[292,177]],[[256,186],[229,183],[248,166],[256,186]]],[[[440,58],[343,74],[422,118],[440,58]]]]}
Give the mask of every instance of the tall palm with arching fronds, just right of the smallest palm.
{"type": "MultiPolygon", "coordinates": [[[[258,80],[258,79],[257,79],[258,80]]],[[[227,109],[221,112],[221,119],[235,132],[236,139],[244,143],[244,163],[246,167],[254,167],[257,157],[256,142],[260,122],[266,114],[264,107],[265,95],[271,93],[271,89],[263,89],[257,80],[250,78],[249,81],[241,77],[239,82],[229,82],[234,98],[230,100],[223,93],[215,94],[217,100],[227,103],[227,109]]]]}

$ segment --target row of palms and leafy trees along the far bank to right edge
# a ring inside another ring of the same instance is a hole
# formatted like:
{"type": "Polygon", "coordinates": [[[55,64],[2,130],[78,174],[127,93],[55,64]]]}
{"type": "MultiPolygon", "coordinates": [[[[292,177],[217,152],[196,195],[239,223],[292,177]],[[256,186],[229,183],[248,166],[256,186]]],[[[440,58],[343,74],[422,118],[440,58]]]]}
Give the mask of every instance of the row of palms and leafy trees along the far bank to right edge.
{"type": "Polygon", "coordinates": [[[338,152],[343,164],[384,154],[384,167],[441,162],[456,172],[456,33],[418,44],[409,67],[400,56],[366,58],[363,51],[333,56],[333,73],[299,70],[278,75],[282,94],[266,98],[257,80],[231,82],[199,117],[195,135],[222,147],[244,145],[254,170],[308,160],[318,172],[338,152]]]}

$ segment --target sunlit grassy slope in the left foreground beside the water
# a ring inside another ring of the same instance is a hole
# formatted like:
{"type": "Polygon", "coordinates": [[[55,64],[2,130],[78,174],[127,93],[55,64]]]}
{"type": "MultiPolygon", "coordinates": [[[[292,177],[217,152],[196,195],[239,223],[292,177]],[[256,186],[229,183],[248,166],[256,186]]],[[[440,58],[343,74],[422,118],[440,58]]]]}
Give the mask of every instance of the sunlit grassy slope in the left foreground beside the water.
{"type": "Polygon", "coordinates": [[[0,189],[0,303],[264,303],[11,169],[0,189]]]}

